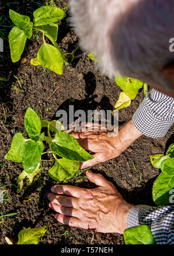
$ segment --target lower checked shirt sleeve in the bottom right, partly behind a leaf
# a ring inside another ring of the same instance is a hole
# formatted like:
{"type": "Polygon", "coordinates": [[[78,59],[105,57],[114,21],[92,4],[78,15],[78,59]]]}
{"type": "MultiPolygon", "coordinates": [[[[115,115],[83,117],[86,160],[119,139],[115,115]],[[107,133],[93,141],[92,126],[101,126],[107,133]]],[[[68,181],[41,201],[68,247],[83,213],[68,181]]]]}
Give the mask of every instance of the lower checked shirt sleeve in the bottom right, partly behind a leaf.
{"type": "Polygon", "coordinates": [[[150,227],[157,244],[174,244],[174,205],[136,205],[128,213],[127,227],[139,225],[150,227]]]}

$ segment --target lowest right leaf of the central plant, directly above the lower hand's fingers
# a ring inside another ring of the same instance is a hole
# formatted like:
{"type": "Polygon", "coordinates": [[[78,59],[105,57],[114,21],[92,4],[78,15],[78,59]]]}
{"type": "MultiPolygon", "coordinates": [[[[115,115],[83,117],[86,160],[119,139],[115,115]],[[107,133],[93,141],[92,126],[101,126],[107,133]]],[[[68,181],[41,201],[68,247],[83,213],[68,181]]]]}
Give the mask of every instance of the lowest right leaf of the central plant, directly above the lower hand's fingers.
{"type": "Polygon", "coordinates": [[[55,165],[49,170],[49,176],[56,182],[66,182],[79,170],[79,163],[66,158],[56,159],[55,165]]]}

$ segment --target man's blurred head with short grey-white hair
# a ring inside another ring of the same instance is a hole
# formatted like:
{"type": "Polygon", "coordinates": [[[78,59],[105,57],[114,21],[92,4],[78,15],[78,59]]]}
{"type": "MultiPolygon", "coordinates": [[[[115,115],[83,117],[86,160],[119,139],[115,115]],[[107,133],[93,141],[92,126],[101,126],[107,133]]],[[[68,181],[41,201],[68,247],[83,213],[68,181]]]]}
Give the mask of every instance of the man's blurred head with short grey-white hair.
{"type": "Polygon", "coordinates": [[[143,80],[174,97],[173,0],[70,0],[81,47],[100,69],[143,80]]]}

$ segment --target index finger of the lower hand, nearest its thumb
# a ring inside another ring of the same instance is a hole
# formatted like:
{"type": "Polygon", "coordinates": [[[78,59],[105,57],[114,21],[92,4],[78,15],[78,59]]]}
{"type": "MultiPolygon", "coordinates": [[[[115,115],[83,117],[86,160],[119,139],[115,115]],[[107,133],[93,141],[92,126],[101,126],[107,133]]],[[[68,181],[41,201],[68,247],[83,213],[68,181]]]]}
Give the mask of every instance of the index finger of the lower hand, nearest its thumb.
{"type": "Polygon", "coordinates": [[[70,195],[71,197],[81,197],[81,193],[85,191],[81,187],[74,187],[70,185],[55,185],[51,188],[51,191],[55,194],[70,195]]]}

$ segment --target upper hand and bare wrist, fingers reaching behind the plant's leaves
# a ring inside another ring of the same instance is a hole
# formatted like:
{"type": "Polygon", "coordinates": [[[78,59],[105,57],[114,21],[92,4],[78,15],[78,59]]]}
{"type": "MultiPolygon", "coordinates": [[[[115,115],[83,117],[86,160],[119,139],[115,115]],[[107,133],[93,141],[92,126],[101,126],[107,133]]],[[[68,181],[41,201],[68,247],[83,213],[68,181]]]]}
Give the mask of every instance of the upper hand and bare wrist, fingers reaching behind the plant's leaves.
{"type": "Polygon", "coordinates": [[[107,130],[93,129],[93,123],[86,123],[80,131],[67,130],[85,150],[92,151],[93,159],[81,163],[81,169],[106,162],[118,157],[129,145],[142,135],[132,123],[132,120],[121,127],[115,137],[109,137],[107,130]]]}

